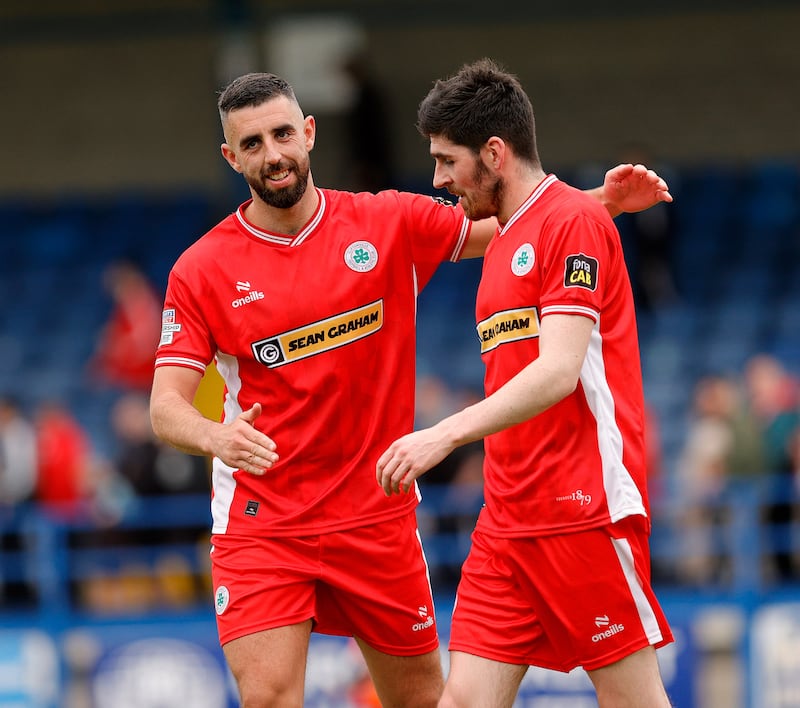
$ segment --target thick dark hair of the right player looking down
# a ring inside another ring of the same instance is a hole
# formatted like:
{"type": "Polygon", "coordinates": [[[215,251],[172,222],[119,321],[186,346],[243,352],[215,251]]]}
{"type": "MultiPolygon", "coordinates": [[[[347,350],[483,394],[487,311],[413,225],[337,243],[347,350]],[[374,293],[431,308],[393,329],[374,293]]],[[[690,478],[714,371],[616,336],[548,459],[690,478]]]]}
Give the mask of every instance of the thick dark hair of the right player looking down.
{"type": "Polygon", "coordinates": [[[524,160],[539,163],[533,107],[519,80],[491,59],[439,79],[417,111],[417,129],[478,152],[492,136],[524,160]]]}

